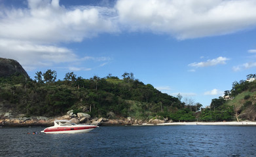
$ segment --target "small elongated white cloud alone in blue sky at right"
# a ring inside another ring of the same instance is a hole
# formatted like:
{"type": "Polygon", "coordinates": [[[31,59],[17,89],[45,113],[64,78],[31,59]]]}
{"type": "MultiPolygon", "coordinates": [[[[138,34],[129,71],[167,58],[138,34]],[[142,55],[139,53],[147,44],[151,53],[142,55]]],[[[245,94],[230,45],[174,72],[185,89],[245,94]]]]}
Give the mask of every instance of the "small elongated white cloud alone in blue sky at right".
{"type": "Polygon", "coordinates": [[[207,61],[202,61],[202,62],[194,62],[190,63],[190,67],[209,67],[209,66],[214,66],[218,64],[225,64],[226,61],[229,60],[229,58],[224,58],[224,57],[218,57],[213,60],[207,60],[207,61]]]}

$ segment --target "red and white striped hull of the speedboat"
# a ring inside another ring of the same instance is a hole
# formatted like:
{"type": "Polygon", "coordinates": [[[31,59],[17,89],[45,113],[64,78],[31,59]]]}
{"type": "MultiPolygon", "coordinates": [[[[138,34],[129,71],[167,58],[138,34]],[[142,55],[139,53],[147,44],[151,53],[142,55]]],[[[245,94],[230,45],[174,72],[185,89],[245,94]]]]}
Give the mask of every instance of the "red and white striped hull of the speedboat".
{"type": "Polygon", "coordinates": [[[86,133],[98,128],[98,126],[79,126],[79,127],[58,127],[58,128],[46,128],[42,132],[44,133],[86,133]]]}

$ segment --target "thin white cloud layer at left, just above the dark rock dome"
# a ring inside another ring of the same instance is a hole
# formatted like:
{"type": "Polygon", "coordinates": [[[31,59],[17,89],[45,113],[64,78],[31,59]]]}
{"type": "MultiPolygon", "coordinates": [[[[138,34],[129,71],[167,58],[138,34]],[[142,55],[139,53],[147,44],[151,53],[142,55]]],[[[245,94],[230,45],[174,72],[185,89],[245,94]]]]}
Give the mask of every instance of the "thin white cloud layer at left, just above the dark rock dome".
{"type": "Polygon", "coordinates": [[[0,39],[0,50],[1,57],[18,60],[26,70],[77,60],[77,56],[68,48],[29,41],[0,39]]]}

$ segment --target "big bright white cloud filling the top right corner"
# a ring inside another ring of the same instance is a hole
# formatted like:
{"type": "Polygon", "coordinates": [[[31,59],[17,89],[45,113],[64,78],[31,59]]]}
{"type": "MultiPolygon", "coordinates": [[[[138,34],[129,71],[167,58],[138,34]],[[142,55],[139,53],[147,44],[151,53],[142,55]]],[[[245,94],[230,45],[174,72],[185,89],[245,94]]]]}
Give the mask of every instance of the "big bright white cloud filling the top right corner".
{"type": "Polygon", "coordinates": [[[130,31],[169,33],[192,39],[234,33],[256,25],[256,1],[120,0],[120,23],[130,31]]]}

